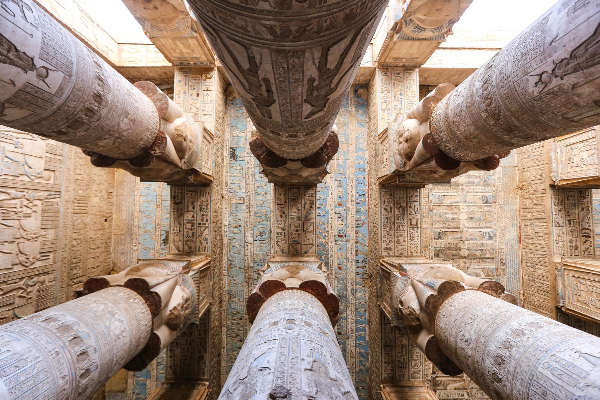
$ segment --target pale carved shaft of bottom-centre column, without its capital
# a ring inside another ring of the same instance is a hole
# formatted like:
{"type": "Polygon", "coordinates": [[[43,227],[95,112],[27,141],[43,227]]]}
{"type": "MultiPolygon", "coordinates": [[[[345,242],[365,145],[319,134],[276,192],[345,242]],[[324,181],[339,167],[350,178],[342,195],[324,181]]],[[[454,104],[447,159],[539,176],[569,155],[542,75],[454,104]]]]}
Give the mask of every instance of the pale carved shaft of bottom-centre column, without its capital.
{"type": "Polygon", "coordinates": [[[301,289],[260,308],[219,399],[358,399],[328,313],[301,289]]]}

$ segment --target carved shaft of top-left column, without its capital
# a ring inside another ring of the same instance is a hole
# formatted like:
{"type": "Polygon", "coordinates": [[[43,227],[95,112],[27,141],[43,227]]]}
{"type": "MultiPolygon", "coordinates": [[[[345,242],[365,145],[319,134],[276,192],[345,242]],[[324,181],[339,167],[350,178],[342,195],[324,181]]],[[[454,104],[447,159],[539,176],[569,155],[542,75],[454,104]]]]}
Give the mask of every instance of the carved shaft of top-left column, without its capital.
{"type": "Polygon", "coordinates": [[[160,128],[152,101],[32,1],[0,8],[0,124],[117,159],[160,128]]]}

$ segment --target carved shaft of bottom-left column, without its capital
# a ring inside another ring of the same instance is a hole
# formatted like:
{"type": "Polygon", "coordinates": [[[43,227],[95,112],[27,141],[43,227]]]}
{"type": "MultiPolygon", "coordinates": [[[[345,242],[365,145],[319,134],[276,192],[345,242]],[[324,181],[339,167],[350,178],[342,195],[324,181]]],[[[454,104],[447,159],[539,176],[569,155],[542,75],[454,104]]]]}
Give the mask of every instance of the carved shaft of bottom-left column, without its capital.
{"type": "Polygon", "coordinates": [[[88,398],[138,354],[152,315],[112,287],[0,326],[0,398],[88,398]]]}

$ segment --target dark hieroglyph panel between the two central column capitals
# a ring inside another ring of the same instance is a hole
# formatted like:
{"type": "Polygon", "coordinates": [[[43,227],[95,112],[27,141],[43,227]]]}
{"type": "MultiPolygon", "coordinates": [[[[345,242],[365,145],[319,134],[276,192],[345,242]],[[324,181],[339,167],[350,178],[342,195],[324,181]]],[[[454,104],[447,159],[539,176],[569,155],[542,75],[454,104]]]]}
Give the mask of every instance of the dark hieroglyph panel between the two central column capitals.
{"type": "Polygon", "coordinates": [[[317,253],[317,188],[274,187],[275,240],[273,254],[317,253]]]}

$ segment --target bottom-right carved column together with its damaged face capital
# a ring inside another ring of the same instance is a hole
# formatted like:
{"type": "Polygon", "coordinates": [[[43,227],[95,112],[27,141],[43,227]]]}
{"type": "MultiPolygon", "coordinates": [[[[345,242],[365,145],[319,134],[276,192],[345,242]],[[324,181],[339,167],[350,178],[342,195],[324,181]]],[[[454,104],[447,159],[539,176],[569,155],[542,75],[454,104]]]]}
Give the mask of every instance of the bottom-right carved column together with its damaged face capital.
{"type": "Polygon", "coordinates": [[[518,307],[496,280],[407,261],[391,271],[390,290],[392,324],[406,327],[440,371],[466,373],[490,398],[597,395],[600,363],[589,359],[600,359],[600,339],[518,307]],[[577,380],[559,378],[567,369],[581,371],[577,380]]]}

